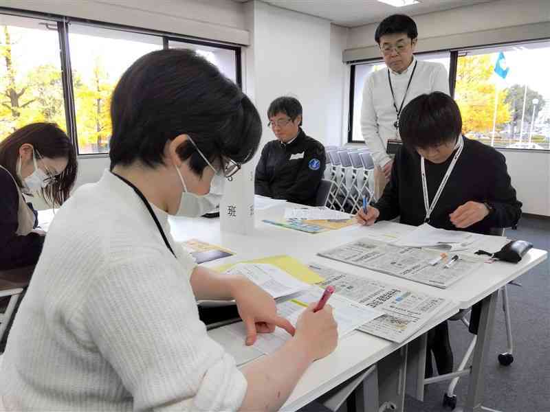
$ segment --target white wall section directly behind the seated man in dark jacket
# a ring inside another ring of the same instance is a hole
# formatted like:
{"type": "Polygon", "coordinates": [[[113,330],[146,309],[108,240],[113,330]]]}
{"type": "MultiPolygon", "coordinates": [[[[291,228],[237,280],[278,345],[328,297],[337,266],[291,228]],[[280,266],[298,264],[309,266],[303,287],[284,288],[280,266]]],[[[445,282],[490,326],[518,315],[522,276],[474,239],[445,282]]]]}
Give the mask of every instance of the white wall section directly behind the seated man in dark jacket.
{"type": "Polygon", "coordinates": [[[347,29],[261,1],[250,1],[245,9],[251,36],[246,92],[264,121],[262,144],[274,139],[267,128],[267,108],[281,95],[300,100],[307,135],[323,144],[338,144],[347,29]]]}

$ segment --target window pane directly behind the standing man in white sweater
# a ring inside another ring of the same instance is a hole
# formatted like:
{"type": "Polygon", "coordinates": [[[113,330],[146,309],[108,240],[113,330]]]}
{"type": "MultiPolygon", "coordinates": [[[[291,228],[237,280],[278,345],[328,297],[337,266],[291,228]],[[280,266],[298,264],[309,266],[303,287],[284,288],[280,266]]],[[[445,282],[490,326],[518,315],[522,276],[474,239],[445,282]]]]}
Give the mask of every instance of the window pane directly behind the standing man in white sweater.
{"type": "MultiPolygon", "coordinates": [[[[438,62],[445,66],[447,73],[449,73],[450,67],[450,53],[426,53],[417,54],[415,57],[418,60],[425,60],[428,62],[438,62]]],[[[360,63],[352,67],[353,71],[353,84],[351,84],[351,98],[350,101],[350,126],[348,141],[351,143],[364,143],[363,135],[361,133],[361,106],[363,104],[363,87],[366,78],[374,71],[386,69],[384,60],[375,60],[368,63],[360,63]]]]}

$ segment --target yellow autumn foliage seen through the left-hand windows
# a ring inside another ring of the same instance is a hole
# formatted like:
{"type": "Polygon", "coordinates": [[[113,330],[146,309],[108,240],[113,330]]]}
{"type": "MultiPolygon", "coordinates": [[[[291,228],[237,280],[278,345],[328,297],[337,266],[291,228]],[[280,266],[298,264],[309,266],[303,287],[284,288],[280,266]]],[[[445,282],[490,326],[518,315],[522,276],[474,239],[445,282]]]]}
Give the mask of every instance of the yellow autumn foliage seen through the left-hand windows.
{"type": "MultiPolygon", "coordinates": [[[[32,122],[54,122],[63,130],[65,100],[61,69],[39,65],[22,73],[21,62],[14,60],[17,47],[9,26],[0,28],[0,141],[17,128],[32,122]]],[[[73,73],[78,146],[89,152],[91,145],[104,148],[111,135],[109,106],[115,84],[109,82],[100,59],[89,82],[73,73]]]]}

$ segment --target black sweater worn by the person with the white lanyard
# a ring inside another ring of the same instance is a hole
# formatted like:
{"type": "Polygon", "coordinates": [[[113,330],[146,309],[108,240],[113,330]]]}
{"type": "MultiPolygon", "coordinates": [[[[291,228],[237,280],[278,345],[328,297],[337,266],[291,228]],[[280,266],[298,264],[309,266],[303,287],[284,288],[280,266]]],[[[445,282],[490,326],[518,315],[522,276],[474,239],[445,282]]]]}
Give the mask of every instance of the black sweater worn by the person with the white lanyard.
{"type": "MultiPolygon", "coordinates": [[[[454,154],[454,152],[453,152],[454,154]]],[[[426,161],[426,181],[430,205],[439,184],[452,161],[443,163],[426,161]]],[[[505,157],[494,148],[475,140],[464,138],[464,149],[456,162],[449,180],[432,211],[430,225],[441,229],[453,229],[449,214],[468,201],[488,203],[493,211],[483,220],[464,230],[489,233],[492,227],[511,227],[518,223],[522,203],[516,198],[511,185],[505,157]]],[[[426,217],[420,176],[420,156],[401,148],[393,161],[391,180],[380,201],[379,220],[400,216],[400,222],[419,226],[426,217]]]]}

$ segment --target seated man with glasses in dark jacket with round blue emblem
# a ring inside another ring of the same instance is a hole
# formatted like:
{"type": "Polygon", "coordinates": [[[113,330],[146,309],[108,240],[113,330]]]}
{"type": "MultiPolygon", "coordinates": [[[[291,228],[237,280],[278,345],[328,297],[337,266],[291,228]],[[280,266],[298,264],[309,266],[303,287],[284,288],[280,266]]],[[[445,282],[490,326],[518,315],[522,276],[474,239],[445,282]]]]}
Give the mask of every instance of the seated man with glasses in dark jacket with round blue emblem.
{"type": "Polygon", "coordinates": [[[302,105],[283,96],[267,109],[270,127],[277,137],[267,143],[256,166],[256,194],[303,205],[315,205],[325,172],[325,148],[302,128],[302,105]]]}

